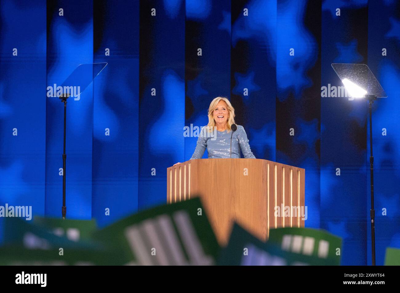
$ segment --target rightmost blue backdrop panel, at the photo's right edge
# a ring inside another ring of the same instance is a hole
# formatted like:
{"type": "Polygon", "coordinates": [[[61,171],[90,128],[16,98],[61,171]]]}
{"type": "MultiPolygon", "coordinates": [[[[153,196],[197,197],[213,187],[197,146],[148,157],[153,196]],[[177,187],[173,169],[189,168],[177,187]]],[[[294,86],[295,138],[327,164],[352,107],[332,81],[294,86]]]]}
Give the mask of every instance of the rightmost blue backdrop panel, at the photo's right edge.
{"type": "MultiPolygon", "coordinates": [[[[386,247],[400,247],[400,2],[368,1],[368,66],[388,97],[372,106],[376,265],[383,265],[386,247]],[[384,133],[386,129],[386,133],[384,133]],[[384,135],[386,134],[386,135],[384,135]],[[385,209],[387,212],[384,213],[385,209]]],[[[366,107],[363,107],[366,113],[366,107]]],[[[366,188],[367,264],[371,265],[370,137],[367,120],[366,188]]]]}

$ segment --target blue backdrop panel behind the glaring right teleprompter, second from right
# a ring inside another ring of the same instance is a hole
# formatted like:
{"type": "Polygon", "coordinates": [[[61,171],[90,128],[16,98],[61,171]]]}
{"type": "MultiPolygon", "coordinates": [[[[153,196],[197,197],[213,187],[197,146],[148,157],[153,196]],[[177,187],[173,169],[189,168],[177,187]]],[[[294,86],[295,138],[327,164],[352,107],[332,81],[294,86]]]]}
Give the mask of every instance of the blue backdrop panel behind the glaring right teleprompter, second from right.
{"type": "MultiPolygon", "coordinates": [[[[367,1],[322,6],[320,228],[343,238],[342,265],[365,265],[366,117],[362,99],[350,101],[331,63],[366,63],[367,1]],[[341,16],[336,9],[341,9],[341,16]],[[345,13],[343,13],[345,12],[345,13]],[[324,92],[325,91],[325,92],[324,92]],[[340,175],[338,173],[340,169],[340,175]],[[332,209],[332,207],[334,207],[332,209]]],[[[306,171],[306,180],[310,176],[306,171]]],[[[306,185],[308,187],[308,185],[306,185]]],[[[310,209],[309,209],[310,210],[310,209]]],[[[308,220],[307,220],[308,222],[308,220]]]]}

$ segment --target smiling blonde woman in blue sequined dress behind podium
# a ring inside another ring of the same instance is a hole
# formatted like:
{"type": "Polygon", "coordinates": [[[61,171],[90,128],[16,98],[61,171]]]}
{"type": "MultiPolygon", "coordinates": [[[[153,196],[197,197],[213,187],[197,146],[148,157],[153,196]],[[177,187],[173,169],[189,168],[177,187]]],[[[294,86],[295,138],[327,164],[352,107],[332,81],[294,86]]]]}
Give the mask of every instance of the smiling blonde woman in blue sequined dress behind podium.
{"type": "Polygon", "coordinates": [[[240,158],[240,150],[245,158],[256,158],[250,149],[246,131],[243,126],[235,125],[234,118],[235,109],[228,99],[213,99],[208,108],[208,125],[200,131],[190,159],[201,159],[206,149],[208,158],[240,158]]]}

